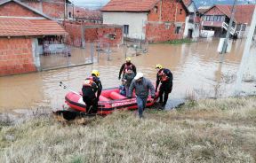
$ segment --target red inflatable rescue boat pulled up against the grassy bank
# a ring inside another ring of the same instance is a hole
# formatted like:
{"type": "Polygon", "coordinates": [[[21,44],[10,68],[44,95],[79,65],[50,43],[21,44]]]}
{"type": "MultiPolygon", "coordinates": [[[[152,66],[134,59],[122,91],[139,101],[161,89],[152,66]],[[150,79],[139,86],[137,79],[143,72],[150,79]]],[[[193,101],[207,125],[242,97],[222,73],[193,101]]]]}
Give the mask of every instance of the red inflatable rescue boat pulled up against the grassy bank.
{"type": "MultiPolygon", "coordinates": [[[[81,94],[81,93],[80,93],[81,94]]],[[[147,101],[147,106],[154,105],[158,98],[158,92],[156,92],[156,97],[152,100],[149,96],[147,101]]],[[[71,109],[85,112],[86,105],[84,104],[83,97],[76,92],[70,91],[65,97],[66,104],[70,106],[71,109]]],[[[98,113],[108,114],[117,110],[132,110],[137,109],[136,97],[133,93],[132,98],[124,97],[119,94],[119,89],[103,89],[100,95],[100,100],[98,103],[98,113]]]]}

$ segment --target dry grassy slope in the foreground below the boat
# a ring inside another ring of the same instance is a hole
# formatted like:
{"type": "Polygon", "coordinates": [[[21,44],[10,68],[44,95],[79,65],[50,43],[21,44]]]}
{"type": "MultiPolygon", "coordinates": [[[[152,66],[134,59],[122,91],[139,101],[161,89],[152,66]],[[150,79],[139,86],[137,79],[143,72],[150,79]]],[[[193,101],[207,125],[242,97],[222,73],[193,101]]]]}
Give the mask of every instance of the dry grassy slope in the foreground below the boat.
{"type": "Polygon", "coordinates": [[[0,162],[255,162],[256,97],[113,113],[86,126],[52,118],[2,126],[0,162]]]}

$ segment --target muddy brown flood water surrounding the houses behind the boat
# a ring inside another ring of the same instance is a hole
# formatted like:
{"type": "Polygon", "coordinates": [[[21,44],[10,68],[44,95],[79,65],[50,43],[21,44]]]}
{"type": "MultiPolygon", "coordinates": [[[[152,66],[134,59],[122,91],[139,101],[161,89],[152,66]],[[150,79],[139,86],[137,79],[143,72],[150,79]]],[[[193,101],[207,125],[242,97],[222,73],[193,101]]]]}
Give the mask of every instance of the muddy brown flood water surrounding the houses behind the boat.
{"type": "MultiPolygon", "coordinates": [[[[156,64],[162,64],[172,71],[173,89],[166,105],[170,109],[186,97],[232,95],[244,42],[237,40],[233,43],[232,51],[224,56],[224,62],[220,62],[217,52],[219,40],[213,39],[180,45],[149,44],[148,53],[132,57],[132,63],[137,66],[137,72],[142,72],[152,82],[156,82],[156,64]]],[[[76,53],[79,56],[79,51],[72,50],[72,58],[76,58],[76,53]]],[[[78,91],[92,69],[100,71],[103,88],[118,86],[120,81],[117,77],[124,63],[124,50],[122,47],[112,49],[110,61],[107,58],[106,54],[101,54],[99,63],[92,65],[0,77],[0,113],[23,113],[42,106],[61,109],[68,91],[60,88],[59,82],[78,91]]],[[[252,47],[248,63],[250,68],[245,73],[249,80],[243,82],[243,91],[249,94],[256,91],[255,63],[256,49],[252,47]]]]}

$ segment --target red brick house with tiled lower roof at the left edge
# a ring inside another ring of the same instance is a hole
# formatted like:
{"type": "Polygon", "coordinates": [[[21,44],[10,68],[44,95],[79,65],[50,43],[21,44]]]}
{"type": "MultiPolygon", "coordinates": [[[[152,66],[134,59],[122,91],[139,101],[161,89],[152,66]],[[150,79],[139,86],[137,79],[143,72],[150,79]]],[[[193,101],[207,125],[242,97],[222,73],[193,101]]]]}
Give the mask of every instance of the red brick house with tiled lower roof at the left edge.
{"type": "Polygon", "coordinates": [[[58,23],[20,1],[0,1],[0,76],[35,72],[39,48],[61,42],[67,33],[58,23]]]}

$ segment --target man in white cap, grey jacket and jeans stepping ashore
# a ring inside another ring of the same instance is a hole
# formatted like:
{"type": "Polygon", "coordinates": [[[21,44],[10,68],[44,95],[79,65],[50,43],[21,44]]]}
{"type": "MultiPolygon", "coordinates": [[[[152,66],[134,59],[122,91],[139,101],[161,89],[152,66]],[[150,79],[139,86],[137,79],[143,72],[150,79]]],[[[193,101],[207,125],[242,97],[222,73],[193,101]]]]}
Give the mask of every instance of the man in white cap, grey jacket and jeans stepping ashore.
{"type": "Polygon", "coordinates": [[[136,74],[129,88],[128,98],[132,98],[132,92],[135,89],[136,100],[138,105],[139,116],[142,118],[143,111],[148,101],[148,91],[150,90],[151,98],[155,98],[155,88],[148,79],[143,77],[142,73],[136,74]]]}

